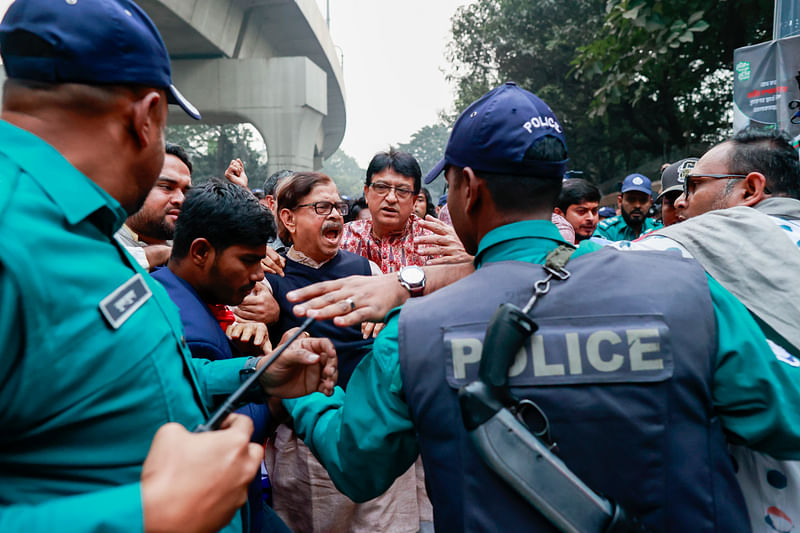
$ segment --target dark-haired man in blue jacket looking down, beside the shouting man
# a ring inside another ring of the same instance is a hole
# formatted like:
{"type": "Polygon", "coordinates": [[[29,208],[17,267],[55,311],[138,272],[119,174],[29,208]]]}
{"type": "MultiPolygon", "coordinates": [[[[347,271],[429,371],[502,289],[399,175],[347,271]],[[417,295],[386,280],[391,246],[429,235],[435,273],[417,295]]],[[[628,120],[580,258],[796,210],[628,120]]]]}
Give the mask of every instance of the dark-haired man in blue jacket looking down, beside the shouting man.
{"type": "MultiPolygon", "coordinates": [[[[169,263],[152,276],[178,307],[192,357],[217,361],[263,355],[258,348],[267,340],[264,324],[250,323],[261,328],[246,336],[252,344],[234,343],[220,327],[212,307],[238,305],[264,278],[261,258],[274,234],[268,209],[243,187],[212,179],[189,192],[175,227],[169,263]]],[[[256,360],[251,357],[249,364],[256,360]]],[[[251,440],[263,444],[270,422],[263,401],[237,412],[253,420],[251,440]]],[[[260,477],[253,480],[248,495],[251,510],[260,510],[260,477]]],[[[262,522],[261,513],[252,512],[250,531],[260,531],[262,522]]]]}

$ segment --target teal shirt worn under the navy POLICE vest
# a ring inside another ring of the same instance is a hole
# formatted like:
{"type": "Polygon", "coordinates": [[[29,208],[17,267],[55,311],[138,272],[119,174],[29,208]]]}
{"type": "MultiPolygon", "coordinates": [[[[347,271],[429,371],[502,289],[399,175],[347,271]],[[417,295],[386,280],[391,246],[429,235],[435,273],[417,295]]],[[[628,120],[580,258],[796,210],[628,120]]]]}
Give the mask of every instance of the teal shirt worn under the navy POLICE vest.
{"type": "MultiPolygon", "coordinates": [[[[563,242],[549,221],[496,228],[478,246],[475,266],[496,261],[543,263],[563,242]]],[[[584,242],[575,252],[600,245],[584,242]]],[[[747,309],[709,279],[717,321],[717,360],[712,392],[732,440],[776,457],[800,458],[800,368],[778,361],[747,309]]],[[[330,398],[315,393],[284,400],[295,430],[321,459],[336,486],[357,501],[381,494],[419,453],[405,403],[398,359],[399,310],[347,385],[330,398]]]]}

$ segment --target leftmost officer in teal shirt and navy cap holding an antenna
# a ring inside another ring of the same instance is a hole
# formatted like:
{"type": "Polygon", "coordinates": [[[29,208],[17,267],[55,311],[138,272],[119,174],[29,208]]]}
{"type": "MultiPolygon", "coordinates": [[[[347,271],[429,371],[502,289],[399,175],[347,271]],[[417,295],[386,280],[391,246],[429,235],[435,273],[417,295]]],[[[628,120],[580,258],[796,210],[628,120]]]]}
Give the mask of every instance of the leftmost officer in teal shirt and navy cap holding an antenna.
{"type": "MultiPolygon", "coordinates": [[[[161,170],[167,101],[200,117],[161,37],[126,0],[18,0],[0,51],[0,531],[241,531],[252,423],[187,429],[247,360],[193,360],[113,236],[161,170]]],[[[262,386],[330,386],[319,356],[290,352],[262,386]]]]}

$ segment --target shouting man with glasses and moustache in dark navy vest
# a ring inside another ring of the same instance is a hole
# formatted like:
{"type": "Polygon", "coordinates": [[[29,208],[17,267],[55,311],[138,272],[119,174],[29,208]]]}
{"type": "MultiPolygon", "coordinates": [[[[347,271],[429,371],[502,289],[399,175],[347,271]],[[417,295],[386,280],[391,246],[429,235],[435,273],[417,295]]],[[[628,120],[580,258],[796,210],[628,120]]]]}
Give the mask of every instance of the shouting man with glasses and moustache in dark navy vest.
{"type": "MultiPolygon", "coordinates": [[[[266,276],[281,309],[278,321],[270,325],[274,341],[303,321],[292,312],[293,304],[286,299],[289,291],[351,275],[380,273],[366,258],[339,249],[342,217],[347,215],[348,205],[325,174],[298,172],[286,178],[277,190],[276,211],[280,239],[290,248],[284,275],[266,276]]],[[[372,337],[365,339],[358,326],[338,327],[332,320],[314,322],[309,332],[333,342],[339,359],[338,384],[346,389],[356,365],[372,349],[372,337]]],[[[383,495],[356,504],[336,489],[322,465],[288,426],[278,428],[267,454],[275,510],[293,531],[414,533],[420,529],[414,467],[383,495]]]]}

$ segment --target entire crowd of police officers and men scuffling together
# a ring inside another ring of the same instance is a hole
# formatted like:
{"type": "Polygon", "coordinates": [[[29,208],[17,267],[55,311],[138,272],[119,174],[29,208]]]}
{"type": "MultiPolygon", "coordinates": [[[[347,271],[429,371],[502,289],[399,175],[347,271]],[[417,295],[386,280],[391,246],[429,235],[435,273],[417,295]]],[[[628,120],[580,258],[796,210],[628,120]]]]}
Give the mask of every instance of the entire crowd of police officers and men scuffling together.
{"type": "Polygon", "coordinates": [[[558,457],[556,481],[646,531],[800,523],[786,134],[686,154],[659,191],[628,175],[601,207],[564,179],[557,113],[509,82],[424,178],[378,152],[345,201],[325,174],[254,183],[238,159],[193,184],[167,104],[200,114],[130,0],[18,0],[0,53],[0,531],[563,530],[459,401],[501,360],[497,409],[524,399],[546,426],[544,454],[506,452],[520,468],[558,457]],[[498,308],[531,324],[507,354],[498,308]]]}

